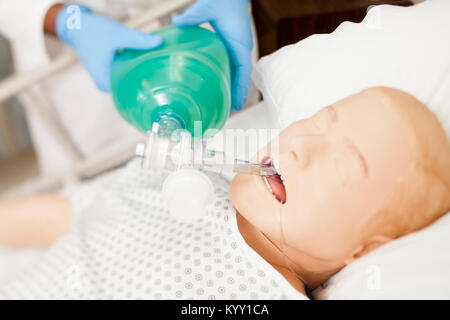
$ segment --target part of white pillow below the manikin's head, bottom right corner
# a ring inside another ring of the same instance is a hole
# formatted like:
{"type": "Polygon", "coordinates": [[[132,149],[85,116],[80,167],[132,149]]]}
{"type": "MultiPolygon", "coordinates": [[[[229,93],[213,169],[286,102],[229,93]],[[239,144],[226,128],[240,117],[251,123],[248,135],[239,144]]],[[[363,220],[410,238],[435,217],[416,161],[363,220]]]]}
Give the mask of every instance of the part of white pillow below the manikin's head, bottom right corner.
{"type": "Polygon", "coordinates": [[[450,214],[357,259],[313,294],[316,299],[449,299],[450,214]]]}

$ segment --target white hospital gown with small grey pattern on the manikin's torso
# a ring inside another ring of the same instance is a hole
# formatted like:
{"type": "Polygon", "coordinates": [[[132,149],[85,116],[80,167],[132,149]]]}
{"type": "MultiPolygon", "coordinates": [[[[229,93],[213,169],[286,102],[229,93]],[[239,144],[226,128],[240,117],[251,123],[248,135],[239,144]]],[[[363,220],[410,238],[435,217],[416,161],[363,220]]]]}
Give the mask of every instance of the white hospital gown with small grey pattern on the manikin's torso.
{"type": "Polygon", "coordinates": [[[245,243],[229,183],[210,178],[214,202],[194,223],[172,218],[161,173],[137,160],[65,190],[71,232],[0,288],[0,298],[306,299],[245,243]]]}

